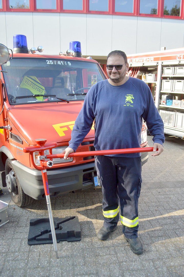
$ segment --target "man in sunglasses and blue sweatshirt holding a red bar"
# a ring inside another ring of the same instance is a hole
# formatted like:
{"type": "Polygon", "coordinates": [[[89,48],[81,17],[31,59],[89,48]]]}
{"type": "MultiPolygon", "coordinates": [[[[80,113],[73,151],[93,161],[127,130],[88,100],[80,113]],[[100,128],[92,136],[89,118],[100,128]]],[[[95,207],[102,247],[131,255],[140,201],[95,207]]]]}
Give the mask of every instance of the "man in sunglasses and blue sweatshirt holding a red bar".
{"type": "MultiPolygon", "coordinates": [[[[107,56],[109,79],[95,84],[87,93],[84,105],[72,130],[65,159],[76,151],[95,120],[96,150],[140,147],[142,120],[153,135],[154,152],[163,151],[164,124],[155,107],[151,91],[140,79],[126,76],[127,56],[115,50],[107,56]]],[[[136,254],[143,252],[138,238],[138,198],[141,189],[140,153],[95,157],[102,186],[103,227],[97,237],[106,240],[117,229],[120,217],[123,234],[136,254]]]]}

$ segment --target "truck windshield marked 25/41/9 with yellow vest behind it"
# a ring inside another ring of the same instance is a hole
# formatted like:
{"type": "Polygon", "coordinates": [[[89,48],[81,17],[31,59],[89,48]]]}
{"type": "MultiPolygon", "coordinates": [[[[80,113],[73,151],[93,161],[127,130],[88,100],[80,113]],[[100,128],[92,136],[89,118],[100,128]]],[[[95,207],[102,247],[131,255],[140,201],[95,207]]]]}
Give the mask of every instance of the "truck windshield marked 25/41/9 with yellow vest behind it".
{"type": "Polygon", "coordinates": [[[11,105],[58,102],[85,98],[88,90],[105,79],[100,66],[90,61],[13,58],[2,65],[11,105]]]}

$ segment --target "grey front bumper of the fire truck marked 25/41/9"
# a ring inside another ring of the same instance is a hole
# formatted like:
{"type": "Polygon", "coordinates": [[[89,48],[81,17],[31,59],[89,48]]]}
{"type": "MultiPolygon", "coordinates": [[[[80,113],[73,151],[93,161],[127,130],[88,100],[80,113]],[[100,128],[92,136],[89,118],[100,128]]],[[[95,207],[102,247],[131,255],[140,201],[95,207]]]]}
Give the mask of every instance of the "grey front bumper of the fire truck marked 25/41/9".
{"type": "MultiPolygon", "coordinates": [[[[25,194],[34,199],[45,197],[41,171],[28,168],[13,160],[15,172],[25,194]]],[[[77,189],[94,186],[96,176],[94,162],[47,170],[50,196],[59,196],[77,189]]]]}

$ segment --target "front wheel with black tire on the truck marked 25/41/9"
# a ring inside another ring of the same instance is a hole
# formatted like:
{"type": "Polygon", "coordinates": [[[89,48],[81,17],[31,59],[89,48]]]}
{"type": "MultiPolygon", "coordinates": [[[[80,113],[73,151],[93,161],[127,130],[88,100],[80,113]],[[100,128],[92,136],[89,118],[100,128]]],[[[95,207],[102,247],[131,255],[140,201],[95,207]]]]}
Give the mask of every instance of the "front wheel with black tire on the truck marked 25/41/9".
{"type": "Polygon", "coordinates": [[[33,198],[23,192],[14,167],[9,159],[5,163],[6,184],[14,203],[19,207],[25,207],[33,201],[33,198]]]}

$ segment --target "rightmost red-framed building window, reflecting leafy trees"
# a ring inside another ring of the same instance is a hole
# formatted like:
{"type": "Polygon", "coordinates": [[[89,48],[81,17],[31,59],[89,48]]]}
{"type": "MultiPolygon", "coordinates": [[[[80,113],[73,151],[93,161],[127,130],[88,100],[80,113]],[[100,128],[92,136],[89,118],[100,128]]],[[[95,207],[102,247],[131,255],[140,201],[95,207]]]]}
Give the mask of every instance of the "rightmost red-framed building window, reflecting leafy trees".
{"type": "Polygon", "coordinates": [[[180,16],[180,0],[164,0],[164,15],[167,16],[180,16]]]}

